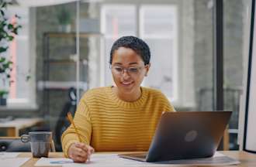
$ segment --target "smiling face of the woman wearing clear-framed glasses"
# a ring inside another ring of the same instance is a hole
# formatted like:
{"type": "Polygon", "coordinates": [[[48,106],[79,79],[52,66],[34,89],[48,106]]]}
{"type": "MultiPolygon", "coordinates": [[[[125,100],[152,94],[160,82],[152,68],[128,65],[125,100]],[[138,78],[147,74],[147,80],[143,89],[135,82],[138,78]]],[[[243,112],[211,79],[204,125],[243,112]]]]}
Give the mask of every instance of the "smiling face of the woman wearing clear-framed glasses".
{"type": "Polygon", "coordinates": [[[150,68],[133,49],[119,47],[112,55],[111,71],[119,94],[137,94],[150,68]]]}

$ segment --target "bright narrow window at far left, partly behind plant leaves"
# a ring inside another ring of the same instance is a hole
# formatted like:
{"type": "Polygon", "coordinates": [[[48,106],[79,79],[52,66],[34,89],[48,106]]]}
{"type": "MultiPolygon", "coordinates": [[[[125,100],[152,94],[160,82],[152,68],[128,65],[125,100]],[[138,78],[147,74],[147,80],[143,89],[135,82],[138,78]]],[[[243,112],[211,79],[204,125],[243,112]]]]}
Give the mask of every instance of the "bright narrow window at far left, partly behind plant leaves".
{"type": "Polygon", "coordinates": [[[31,64],[33,59],[29,53],[29,8],[9,6],[9,15],[18,14],[19,34],[9,43],[7,55],[12,61],[11,86],[9,87],[8,106],[35,107],[35,90],[33,89],[33,80],[31,64]]]}

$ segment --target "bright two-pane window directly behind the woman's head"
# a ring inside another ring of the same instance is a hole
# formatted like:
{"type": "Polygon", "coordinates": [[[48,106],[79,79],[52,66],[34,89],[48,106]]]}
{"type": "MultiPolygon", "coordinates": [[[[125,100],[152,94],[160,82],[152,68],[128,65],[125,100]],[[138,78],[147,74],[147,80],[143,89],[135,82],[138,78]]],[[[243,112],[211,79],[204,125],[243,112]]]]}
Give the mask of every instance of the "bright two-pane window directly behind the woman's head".
{"type": "Polygon", "coordinates": [[[175,5],[103,5],[105,85],[112,83],[108,65],[112,43],[121,36],[138,36],[150,46],[152,55],[150,75],[145,78],[143,85],[160,89],[171,101],[178,99],[177,26],[175,5]]]}

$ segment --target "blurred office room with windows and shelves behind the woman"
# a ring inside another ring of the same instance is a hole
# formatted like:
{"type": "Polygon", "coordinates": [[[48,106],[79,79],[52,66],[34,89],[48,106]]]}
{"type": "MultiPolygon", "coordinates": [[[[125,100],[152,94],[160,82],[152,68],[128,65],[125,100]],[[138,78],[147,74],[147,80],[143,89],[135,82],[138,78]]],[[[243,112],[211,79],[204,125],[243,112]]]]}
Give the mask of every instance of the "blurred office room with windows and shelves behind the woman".
{"type": "MultiPolygon", "coordinates": [[[[61,151],[67,112],[74,114],[86,90],[112,84],[109,52],[121,36],[140,37],[150,46],[152,66],[144,87],[160,89],[177,111],[216,109],[215,1],[7,2],[12,4],[1,7],[2,18],[22,27],[1,52],[12,62],[12,70],[7,78],[0,73],[0,92],[8,92],[0,95],[6,99],[0,105],[0,136],[53,131],[61,151]]],[[[230,150],[239,146],[250,10],[251,1],[223,0],[223,109],[234,111],[228,131],[230,150]]]]}

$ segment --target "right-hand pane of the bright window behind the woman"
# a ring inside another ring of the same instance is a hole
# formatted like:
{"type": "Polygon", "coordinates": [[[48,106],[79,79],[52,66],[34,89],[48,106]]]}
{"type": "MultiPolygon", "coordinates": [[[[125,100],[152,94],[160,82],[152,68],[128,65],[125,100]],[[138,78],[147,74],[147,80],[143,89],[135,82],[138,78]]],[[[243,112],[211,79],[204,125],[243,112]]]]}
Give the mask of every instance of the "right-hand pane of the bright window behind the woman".
{"type": "Polygon", "coordinates": [[[178,99],[176,19],[175,5],[140,8],[140,37],[150,46],[152,54],[150,75],[145,78],[144,86],[162,90],[171,101],[178,99]]]}

